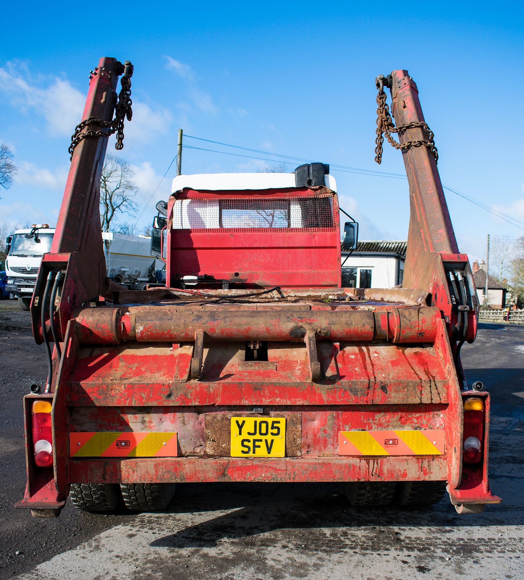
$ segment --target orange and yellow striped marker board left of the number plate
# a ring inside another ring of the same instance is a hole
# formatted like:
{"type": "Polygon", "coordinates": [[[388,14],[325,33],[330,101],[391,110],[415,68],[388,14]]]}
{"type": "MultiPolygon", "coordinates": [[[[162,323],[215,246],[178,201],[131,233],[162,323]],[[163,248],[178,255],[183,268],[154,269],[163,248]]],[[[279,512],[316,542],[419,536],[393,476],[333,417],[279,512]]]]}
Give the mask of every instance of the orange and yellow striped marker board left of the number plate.
{"type": "Polygon", "coordinates": [[[70,456],[78,457],[176,457],[177,434],[112,431],[69,434],[70,456]]]}

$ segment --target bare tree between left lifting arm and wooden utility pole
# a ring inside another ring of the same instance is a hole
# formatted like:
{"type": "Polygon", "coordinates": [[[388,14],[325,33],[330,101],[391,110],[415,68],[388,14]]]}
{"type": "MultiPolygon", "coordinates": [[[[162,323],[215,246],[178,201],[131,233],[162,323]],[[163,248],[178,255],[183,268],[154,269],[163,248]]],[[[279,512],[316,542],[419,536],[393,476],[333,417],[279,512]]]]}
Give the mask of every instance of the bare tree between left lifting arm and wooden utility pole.
{"type": "Polygon", "coordinates": [[[100,176],[100,221],[102,231],[109,231],[115,213],[134,215],[137,187],[133,182],[134,172],[129,163],[114,155],[105,157],[100,176]]]}

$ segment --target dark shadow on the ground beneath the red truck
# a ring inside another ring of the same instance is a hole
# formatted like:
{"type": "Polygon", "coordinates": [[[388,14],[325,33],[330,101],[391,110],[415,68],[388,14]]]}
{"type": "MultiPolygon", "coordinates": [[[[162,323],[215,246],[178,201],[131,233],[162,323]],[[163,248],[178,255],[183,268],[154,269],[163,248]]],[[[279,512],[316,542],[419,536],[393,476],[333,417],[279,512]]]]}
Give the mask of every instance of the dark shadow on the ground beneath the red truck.
{"type": "MultiPolygon", "coordinates": [[[[520,483],[515,482],[515,492],[520,483]]],[[[488,506],[485,513],[461,516],[447,494],[440,503],[427,509],[363,509],[349,505],[339,484],[181,484],[172,503],[173,517],[176,519],[177,512],[185,512],[203,521],[158,538],[150,545],[210,548],[224,539],[244,538],[249,542],[250,537],[266,532],[278,532],[281,541],[296,543],[301,541],[301,533],[325,536],[362,530],[373,535],[384,532],[384,541],[391,546],[402,541],[401,532],[395,532],[399,527],[442,530],[520,524],[523,507],[521,500],[519,506],[488,506]],[[226,513],[217,515],[217,512],[226,513]]]]}

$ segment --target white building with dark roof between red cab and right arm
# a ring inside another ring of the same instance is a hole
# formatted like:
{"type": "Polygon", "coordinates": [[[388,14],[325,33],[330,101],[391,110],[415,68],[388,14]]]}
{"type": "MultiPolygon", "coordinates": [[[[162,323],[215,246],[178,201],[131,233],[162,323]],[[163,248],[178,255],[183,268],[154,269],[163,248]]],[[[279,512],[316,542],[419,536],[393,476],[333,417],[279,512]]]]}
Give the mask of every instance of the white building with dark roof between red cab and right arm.
{"type": "Polygon", "coordinates": [[[342,286],[392,288],[402,284],[406,246],[406,241],[363,240],[352,253],[342,247],[342,286]]]}

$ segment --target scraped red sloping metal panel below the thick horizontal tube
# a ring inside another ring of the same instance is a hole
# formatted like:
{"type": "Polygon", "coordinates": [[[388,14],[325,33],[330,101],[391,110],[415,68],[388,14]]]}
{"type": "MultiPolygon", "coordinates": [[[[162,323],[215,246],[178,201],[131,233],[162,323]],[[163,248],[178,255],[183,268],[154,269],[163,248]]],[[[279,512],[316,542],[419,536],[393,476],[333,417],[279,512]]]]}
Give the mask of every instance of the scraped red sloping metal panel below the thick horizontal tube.
{"type": "MultiPolygon", "coordinates": [[[[274,368],[249,368],[245,345],[205,349],[200,380],[168,345],[82,349],[67,376],[74,405],[258,405],[446,403],[449,378],[433,349],[342,343],[335,380],[312,383],[304,345],[269,343],[274,368]],[[241,367],[239,368],[239,365],[241,367]],[[181,375],[179,369],[183,371],[181,375]],[[183,379],[185,380],[185,379],[183,379]]],[[[329,359],[321,357],[325,373],[329,359]]]]}

